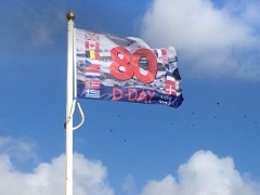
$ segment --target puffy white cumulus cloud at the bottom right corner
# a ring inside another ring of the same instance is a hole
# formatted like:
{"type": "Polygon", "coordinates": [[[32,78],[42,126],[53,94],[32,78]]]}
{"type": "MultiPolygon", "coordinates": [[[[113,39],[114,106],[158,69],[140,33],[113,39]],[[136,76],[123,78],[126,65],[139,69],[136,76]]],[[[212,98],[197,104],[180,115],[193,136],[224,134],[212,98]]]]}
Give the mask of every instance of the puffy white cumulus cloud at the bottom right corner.
{"type": "Polygon", "coordinates": [[[178,170],[178,180],[167,176],[150,181],[141,195],[258,195],[259,185],[244,179],[231,157],[219,158],[199,151],[178,170]]]}

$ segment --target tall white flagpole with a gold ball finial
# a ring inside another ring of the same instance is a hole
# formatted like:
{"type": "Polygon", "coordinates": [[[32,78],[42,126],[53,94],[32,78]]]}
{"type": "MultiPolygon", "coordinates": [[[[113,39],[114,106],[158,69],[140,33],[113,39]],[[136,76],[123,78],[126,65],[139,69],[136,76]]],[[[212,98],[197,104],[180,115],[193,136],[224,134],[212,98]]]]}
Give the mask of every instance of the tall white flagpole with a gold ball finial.
{"type": "Polygon", "coordinates": [[[66,195],[73,195],[73,116],[74,109],[74,20],[69,11],[67,25],[67,92],[66,92],[66,195]]]}

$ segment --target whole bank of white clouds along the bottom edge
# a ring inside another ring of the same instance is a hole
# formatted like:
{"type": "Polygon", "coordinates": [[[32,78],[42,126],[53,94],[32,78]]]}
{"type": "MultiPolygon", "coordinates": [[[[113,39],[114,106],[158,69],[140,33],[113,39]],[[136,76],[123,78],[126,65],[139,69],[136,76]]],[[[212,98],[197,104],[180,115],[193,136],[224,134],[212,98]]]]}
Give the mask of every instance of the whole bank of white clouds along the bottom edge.
{"type": "MultiPolygon", "coordinates": [[[[6,153],[8,143],[28,145],[15,139],[0,139],[0,194],[4,195],[63,195],[65,193],[65,155],[50,162],[40,162],[31,172],[15,168],[6,153]]],[[[12,148],[13,151],[13,148],[12,148]]],[[[17,148],[17,151],[20,151],[17,148]]],[[[30,151],[30,150],[29,150],[30,151]]],[[[17,153],[12,153],[17,154],[17,153]]],[[[257,195],[260,184],[243,177],[231,157],[218,157],[212,152],[198,151],[185,164],[180,165],[178,178],[171,174],[161,180],[150,180],[141,193],[136,193],[134,178],[126,176],[123,191],[140,195],[257,195]]],[[[107,168],[100,160],[87,159],[74,154],[74,193],[77,195],[114,195],[109,186],[107,168]]]]}

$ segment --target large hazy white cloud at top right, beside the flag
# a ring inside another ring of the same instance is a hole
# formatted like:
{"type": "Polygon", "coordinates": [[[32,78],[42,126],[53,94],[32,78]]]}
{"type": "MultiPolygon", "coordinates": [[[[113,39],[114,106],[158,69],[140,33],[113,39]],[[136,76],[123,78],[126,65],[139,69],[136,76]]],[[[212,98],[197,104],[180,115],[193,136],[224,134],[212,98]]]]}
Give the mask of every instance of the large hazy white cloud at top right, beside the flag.
{"type": "Polygon", "coordinates": [[[210,0],[154,0],[143,17],[142,37],[153,47],[174,46],[180,62],[195,76],[259,79],[259,5],[255,0],[222,5],[210,0]]]}

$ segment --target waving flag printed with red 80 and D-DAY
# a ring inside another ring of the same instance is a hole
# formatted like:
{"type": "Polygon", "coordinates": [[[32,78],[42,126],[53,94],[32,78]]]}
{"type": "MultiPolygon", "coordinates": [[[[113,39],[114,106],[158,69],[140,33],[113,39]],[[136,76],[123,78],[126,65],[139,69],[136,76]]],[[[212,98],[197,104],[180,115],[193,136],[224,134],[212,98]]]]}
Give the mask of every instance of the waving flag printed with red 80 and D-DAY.
{"type": "Polygon", "coordinates": [[[171,107],[182,104],[173,47],[151,49],[140,38],[75,31],[78,98],[171,107]]]}

